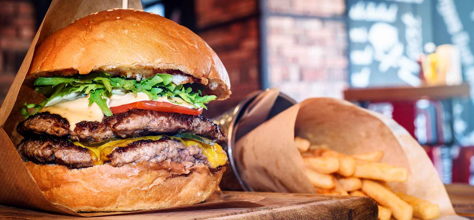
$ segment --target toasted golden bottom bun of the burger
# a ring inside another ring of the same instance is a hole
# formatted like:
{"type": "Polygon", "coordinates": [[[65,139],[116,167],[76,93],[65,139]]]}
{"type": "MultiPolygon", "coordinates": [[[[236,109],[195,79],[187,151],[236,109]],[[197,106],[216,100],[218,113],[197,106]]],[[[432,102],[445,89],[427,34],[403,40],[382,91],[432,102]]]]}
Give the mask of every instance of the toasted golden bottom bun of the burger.
{"type": "Polygon", "coordinates": [[[211,172],[207,165],[199,165],[187,170],[169,160],[82,169],[32,162],[25,165],[49,201],[73,211],[136,211],[196,204],[216,190],[225,169],[211,172]]]}

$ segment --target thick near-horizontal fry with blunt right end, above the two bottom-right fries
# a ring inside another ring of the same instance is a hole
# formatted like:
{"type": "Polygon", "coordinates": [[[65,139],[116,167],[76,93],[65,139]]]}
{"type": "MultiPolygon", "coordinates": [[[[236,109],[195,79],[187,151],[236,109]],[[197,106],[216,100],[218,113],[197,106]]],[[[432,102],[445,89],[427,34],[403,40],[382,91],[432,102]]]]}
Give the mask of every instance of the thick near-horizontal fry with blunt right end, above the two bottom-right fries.
{"type": "Polygon", "coordinates": [[[355,177],[382,180],[385,182],[405,182],[408,180],[408,170],[384,163],[356,161],[355,177]]]}

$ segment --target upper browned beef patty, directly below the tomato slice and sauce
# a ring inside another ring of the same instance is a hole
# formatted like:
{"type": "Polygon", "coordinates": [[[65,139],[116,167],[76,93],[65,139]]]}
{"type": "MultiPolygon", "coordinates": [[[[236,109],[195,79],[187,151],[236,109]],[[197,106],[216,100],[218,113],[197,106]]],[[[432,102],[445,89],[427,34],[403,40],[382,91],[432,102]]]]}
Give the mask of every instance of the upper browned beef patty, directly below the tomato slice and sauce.
{"type": "Polygon", "coordinates": [[[184,132],[210,138],[215,142],[227,141],[222,130],[209,119],[172,112],[134,109],[104,117],[102,122],[81,121],[73,131],[69,122],[57,114],[36,113],[20,122],[17,131],[23,137],[31,134],[69,137],[84,142],[101,142],[107,138],[133,138],[151,133],[184,132]]]}

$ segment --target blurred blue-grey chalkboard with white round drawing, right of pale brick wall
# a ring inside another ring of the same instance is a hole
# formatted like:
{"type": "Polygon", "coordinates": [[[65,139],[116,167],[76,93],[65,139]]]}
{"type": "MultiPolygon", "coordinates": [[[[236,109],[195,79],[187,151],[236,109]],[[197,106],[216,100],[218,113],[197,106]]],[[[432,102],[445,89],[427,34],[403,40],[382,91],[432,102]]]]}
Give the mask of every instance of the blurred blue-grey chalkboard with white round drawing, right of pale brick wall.
{"type": "Polygon", "coordinates": [[[347,0],[353,87],[419,85],[423,45],[431,41],[431,0],[347,0]]]}

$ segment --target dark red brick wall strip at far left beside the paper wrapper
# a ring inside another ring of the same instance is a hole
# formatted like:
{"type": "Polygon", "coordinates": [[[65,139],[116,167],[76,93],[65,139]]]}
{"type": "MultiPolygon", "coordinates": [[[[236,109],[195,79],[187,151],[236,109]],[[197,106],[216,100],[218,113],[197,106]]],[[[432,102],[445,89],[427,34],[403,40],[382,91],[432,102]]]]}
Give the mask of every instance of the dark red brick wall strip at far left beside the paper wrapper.
{"type": "Polygon", "coordinates": [[[0,0],[0,104],[36,34],[30,1],[0,0]]]}

